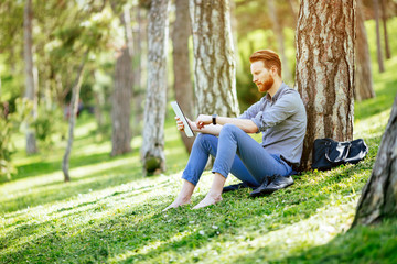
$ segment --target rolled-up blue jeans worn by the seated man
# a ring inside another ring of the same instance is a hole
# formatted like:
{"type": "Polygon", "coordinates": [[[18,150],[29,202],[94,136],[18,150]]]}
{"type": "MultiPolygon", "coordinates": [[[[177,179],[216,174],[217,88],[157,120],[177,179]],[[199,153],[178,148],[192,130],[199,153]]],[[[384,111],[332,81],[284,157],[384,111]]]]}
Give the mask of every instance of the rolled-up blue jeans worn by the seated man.
{"type": "Polygon", "coordinates": [[[215,157],[213,173],[219,173],[224,177],[232,173],[250,187],[260,186],[267,176],[292,174],[291,166],[280,155],[267,152],[238,127],[225,124],[219,138],[197,135],[182,178],[196,185],[210,155],[215,157]]]}

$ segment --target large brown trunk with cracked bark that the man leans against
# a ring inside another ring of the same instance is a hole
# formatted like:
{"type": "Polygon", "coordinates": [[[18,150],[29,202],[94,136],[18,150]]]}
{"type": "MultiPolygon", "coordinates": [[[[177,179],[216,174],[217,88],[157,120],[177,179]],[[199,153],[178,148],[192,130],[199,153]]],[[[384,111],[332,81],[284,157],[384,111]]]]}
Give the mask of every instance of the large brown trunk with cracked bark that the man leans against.
{"type": "Polygon", "coordinates": [[[308,114],[301,165],[318,138],[353,136],[355,0],[302,0],[297,25],[296,88],[308,114]]]}

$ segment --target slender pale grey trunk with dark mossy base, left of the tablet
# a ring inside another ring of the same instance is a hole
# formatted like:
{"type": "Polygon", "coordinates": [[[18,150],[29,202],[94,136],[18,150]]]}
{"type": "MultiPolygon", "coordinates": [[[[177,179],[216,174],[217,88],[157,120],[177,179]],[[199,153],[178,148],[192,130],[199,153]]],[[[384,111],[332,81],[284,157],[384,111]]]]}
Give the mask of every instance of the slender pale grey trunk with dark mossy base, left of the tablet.
{"type": "Polygon", "coordinates": [[[169,0],[152,0],[148,26],[148,89],[141,148],[143,174],[165,170],[167,53],[169,0]]]}

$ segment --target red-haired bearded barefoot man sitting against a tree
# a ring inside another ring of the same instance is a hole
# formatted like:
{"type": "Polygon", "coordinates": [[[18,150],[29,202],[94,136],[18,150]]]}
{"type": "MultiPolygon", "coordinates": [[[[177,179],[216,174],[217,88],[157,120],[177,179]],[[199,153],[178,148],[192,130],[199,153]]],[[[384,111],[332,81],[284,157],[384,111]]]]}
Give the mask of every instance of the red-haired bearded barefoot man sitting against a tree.
{"type": "MultiPolygon", "coordinates": [[[[245,186],[256,187],[251,196],[270,194],[293,184],[290,175],[299,166],[307,127],[303,102],[298,91],[282,81],[281,62],[275,52],[257,51],[249,62],[253,81],[259,92],[267,94],[238,118],[200,114],[191,122],[192,129],[201,133],[183,172],[181,193],[164,210],[191,202],[208,155],[215,156],[214,180],[206,197],[193,209],[222,200],[228,173],[245,186]],[[262,133],[261,144],[247,134],[259,132],[262,133]]],[[[178,129],[183,131],[182,121],[176,120],[178,129]]]]}

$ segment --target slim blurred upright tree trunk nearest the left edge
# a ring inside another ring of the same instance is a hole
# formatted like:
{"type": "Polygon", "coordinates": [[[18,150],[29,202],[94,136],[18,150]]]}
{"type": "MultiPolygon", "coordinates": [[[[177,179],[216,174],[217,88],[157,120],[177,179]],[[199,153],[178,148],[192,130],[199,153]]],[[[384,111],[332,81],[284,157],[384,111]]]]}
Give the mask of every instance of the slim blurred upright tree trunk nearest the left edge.
{"type": "MultiPolygon", "coordinates": [[[[33,119],[36,117],[36,105],[35,99],[36,92],[34,87],[34,77],[33,77],[33,54],[32,54],[32,0],[25,1],[24,7],[24,16],[23,16],[23,31],[24,31],[24,62],[25,62],[25,98],[33,102],[32,116],[33,119]]],[[[31,128],[31,124],[26,124],[26,153],[34,154],[37,152],[36,140],[34,129],[31,128]]]]}

